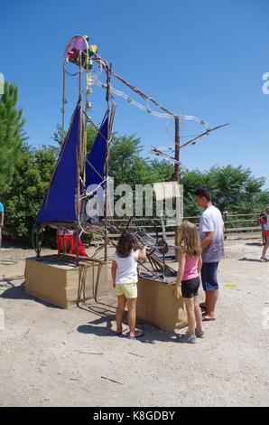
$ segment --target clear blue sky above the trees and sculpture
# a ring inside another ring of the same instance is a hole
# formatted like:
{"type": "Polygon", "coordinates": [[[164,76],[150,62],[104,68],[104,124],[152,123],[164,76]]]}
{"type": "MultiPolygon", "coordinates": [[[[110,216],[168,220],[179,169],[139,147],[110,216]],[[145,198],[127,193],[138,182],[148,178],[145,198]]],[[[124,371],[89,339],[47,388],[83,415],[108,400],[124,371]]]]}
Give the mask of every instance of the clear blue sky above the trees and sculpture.
{"type": "MultiPolygon", "coordinates": [[[[267,0],[5,2],[0,72],[19,87],[29,143],[53,145],[61,120],[63,52],[71,37],[87,34],[117,74],[167,109],[203,118],[211,127],[230,123],[182,149],[183,165],[202,171],[243,165],[255,177],[265,176],[269,188],[269,94],[262,91],[262,76],[269,72],[268,15],[267,0]]],[[[112,85],[147,105],[116,80],[112,85]]],[[[77,96],[78,80],[68,78],[68,116],[77,96]]],[[[114,130],[140,137],[144,156],[153,157],[151,146],[172,146],[172,119],[115,100],[114,130]]],[[[94,87],[91,101],[98,123],[105,92],[94,87]]],[[[186,123],[181,143],[202,130],[186,123]]]]}

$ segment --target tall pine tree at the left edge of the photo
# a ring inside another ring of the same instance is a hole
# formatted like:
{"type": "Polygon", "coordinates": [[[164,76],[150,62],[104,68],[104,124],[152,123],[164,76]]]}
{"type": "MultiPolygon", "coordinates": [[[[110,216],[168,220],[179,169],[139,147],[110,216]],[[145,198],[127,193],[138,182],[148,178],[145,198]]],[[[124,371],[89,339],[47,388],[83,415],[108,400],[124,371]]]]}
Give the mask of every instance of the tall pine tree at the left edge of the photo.
{"type": "Polygon", "coordinates": [[[12,181],[23,141],[27,139],[23,132],[23,109],[17,109],[17,101],[17,87],[5,81],[4,94],[0,96],[0,194],[12,181]]]}

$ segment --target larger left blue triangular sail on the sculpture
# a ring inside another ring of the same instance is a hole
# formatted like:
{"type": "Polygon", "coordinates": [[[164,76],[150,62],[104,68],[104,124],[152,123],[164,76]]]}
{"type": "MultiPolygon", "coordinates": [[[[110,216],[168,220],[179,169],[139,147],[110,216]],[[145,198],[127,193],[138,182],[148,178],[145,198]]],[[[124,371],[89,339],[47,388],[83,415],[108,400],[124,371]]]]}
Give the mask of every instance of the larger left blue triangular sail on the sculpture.
{"type": "Polygon", "coordinates": [[[44,197],[36,222],[75,222],[77,186],[77,147],[81,123],[81,102],[73,112],[69,132],[60,150],[60,156],[44,197]]]}

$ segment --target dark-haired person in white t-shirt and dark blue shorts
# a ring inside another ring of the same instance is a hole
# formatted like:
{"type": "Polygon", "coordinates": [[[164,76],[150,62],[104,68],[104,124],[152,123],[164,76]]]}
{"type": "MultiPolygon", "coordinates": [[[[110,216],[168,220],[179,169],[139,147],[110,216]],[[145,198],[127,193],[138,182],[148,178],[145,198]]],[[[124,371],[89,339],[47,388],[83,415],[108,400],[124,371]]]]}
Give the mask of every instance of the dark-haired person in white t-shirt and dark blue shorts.
{"type": "Polygon", "coordinates": [[[224,223],[218,208],[211,201],[208,186],[199,186],[195,191],[195,203],[204,209],[199,220],[199,237],[202,247],[202,285],[206,300],[200,304],[206,311],[203,320],[215,320],[215,307],[218,300],[218,262],[224,257],[224,223]]]}

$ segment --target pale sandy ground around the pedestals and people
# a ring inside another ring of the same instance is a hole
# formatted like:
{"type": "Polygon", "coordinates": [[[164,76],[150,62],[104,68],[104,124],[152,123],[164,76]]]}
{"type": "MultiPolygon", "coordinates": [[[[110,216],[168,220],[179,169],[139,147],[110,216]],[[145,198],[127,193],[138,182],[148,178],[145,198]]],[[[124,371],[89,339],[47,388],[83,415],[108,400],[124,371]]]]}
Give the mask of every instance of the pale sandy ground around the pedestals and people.
{"type": "Polygon", "coordinates": [[[117,337],[112,291],[69,310],[34,299],[23,290],[24,259],[34,252],[2,250],[0,261],[17,263],[0,263],[0,406],[268,406],[269,262],[258,261],[261,250],[258,236],[226,241],[217,320],[196,345],[150,324],[139,324],[139,340],[117,337]]]}

